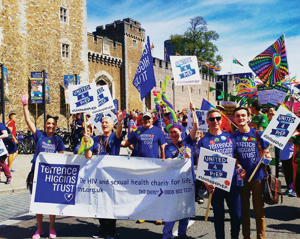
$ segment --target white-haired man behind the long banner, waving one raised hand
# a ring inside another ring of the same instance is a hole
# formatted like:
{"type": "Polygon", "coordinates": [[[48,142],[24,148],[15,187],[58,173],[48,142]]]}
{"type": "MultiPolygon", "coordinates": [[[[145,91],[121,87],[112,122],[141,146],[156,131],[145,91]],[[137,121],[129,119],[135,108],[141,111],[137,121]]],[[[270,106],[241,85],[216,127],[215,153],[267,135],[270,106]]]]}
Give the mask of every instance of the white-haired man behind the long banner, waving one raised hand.
{"type": "MultiPolygon", "coordinates": [[[[111,117],[105,116],[102,118],[102,136],[94,138],[94,145],[86,149],[84,155],[86,159],[90,159],[93,154],[95,155],[119,155],[122,142],[122,121],[126,117],[126,110],[123,112],[116,112],[117,116],[117,129],[112,132],[114,121],[111,117]]],[[[90,136],[84,135],[84,141],[88,142],[90,136]]],[[[104,237],[106,239],[113,239],[116,235],[116,219],[99,218],[100,230],[94,233],[93,238],[104,237]]]]}

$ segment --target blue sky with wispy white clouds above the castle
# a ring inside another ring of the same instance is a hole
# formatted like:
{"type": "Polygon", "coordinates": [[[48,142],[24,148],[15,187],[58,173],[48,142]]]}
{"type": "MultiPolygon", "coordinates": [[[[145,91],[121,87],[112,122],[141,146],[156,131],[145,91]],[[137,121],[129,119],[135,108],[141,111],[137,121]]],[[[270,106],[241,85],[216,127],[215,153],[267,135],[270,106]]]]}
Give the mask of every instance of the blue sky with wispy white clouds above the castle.
{"type": "Polygon", "coordinates": [[[202,16],[209,30],[219,33],[215,44],[223,56],[221,74],[231,71],[231,55],[244,66],[233,64],[233,73],[250,72],[248,62],[273,44],[284,31],[289,71],[300,78],[299,1],[100,1],[87,0],[87,30],[130,17],[141,23],[154,43],[153,56],[164,59],[164,41],[181,34],[189,19],[202,16]]]}

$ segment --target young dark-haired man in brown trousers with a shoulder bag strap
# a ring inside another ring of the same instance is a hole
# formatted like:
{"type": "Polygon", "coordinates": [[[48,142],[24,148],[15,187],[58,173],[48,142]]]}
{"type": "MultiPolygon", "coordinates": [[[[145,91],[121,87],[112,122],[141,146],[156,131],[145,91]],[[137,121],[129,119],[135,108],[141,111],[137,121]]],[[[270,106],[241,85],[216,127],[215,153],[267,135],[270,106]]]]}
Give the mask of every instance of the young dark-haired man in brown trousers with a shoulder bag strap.
{"type": "Polygon", "coordinates": [[[252,203],[255,214],[257,238],[265,236],[265,215],[263,212],[263,179],[266,174],[263,172],[265,165],[260,165],[252,180],[248,182],[250,175],[260,161],[258,142],[264,151],[264,156],[271,158],[270,152],[265,151],[269,143],[262,139],[262,131],[250,128],[247,122],[250,120],[250,113],[245,107],[238,107],[234,110],[234,122],[238,126],[232,136],[236,141],[235,158],[239,159],[241,166],[247,171],[243,187],[240,188],[242,205],[242,232],[245,239],[250,239],[250,194],[252,191],[252,203]]]}

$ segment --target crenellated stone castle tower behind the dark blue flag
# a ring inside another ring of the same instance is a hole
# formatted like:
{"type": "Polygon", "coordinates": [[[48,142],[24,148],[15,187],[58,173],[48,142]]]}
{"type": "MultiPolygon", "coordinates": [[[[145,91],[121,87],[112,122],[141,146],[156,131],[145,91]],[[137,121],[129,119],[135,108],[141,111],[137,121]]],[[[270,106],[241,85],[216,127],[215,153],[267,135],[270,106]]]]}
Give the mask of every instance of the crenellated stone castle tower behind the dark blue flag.
{"type": "Polygon", "coordinates": [[[115,21],[104,26],[97,26],[94,35],[107,37],[122,44],[122,73],[120,79],[121,108],[126,110],[144,108],[139,93],[132,81],[145,45],[145,29],[140,22],[131,18],[115,21]]]}

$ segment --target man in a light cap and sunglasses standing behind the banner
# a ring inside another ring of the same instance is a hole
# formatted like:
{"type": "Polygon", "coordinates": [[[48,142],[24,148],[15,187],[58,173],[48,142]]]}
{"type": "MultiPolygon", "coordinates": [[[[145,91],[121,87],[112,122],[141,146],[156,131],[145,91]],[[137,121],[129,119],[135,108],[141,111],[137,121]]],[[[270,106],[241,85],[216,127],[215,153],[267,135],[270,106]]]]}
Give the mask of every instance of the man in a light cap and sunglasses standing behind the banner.
{"type": "Polygon", "coordinates": [[[161,147],[161,158],[164,159],[166,139],[163,131],[153,126],[153,118],[150,112],[144,112],[142,119],[144,121],[144,127],[140,127],[138,130],[131,132],[124,147],[137,143],[136,156],[146,158],[160,158],[159,147],[161,147]]]}

